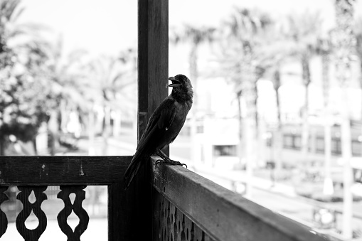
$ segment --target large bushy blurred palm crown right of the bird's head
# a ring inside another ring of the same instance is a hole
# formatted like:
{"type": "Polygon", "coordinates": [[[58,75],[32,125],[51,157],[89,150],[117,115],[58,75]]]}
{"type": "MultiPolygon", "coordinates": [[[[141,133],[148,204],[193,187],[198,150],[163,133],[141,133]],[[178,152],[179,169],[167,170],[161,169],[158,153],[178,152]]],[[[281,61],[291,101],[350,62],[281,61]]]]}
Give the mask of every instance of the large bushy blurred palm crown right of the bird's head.
{"type": "Polygon", "coordinates": [[[247,82],[255,85],[265,73],[267,55],[262,46],[272,23],[267,14],[249,9],[235,9],[223,23],[220,63],[235,85],[236,93],[242,91],[247,82]]]}

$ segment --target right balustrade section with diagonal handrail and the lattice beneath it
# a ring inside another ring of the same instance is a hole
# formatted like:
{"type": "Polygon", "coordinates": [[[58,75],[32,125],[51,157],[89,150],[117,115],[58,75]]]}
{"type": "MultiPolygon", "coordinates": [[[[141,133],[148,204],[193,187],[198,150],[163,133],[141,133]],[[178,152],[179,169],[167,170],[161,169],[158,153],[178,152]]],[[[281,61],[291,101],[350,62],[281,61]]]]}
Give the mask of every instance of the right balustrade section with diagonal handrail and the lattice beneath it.
{"type": "Polygon", "coordinates": [[[152,166],[153,240],[328,240],[186,168],[152,166]]]}

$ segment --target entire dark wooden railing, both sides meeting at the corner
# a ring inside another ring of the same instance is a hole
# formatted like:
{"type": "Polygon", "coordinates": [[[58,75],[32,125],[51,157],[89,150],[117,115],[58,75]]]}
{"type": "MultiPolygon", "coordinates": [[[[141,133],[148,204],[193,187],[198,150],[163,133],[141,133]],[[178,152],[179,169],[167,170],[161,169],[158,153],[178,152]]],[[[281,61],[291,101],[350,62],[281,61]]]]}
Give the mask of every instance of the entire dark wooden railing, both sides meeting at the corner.
{"type": "MultiPolygon", "coordinates": [[[[85,186],[108,186],[108,240],[326,240],[309,228],[252,203],[181,166],[154,165],[151,159],[127,191],[122,176],[131,156],[1,156],[0,204],[8,186],[18,186],[23,210],[16,228],[24,240],[38,240],[47,220],[41,203],[47,186],[60,186],[64,208],[58,225],[68,240],[80,240],[89,217],[82,208],[85,186]],[[151,171],[149,171],[151,170],[151,171]],[[34,193],[36,200],[28,197],[34,193]],[[70,202],[70,193],[75,200],[70,202]],[[29,230],[25,220],[33,211],[38,227],[29,230]],[[79,224],[67,224],[72,211],[79,224]]],[[[0,240],[6,232],[6,215],[0,211],[0,240]]]]}

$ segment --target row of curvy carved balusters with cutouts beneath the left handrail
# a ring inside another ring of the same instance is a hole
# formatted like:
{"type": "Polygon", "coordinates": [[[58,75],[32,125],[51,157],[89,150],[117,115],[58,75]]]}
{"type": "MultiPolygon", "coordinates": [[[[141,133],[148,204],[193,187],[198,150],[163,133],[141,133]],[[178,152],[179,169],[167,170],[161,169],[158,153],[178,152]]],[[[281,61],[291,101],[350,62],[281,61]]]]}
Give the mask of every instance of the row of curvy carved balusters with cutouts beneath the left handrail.
{"type": "MultiPolygon", "coordinates": [[[[89,215],[82,208],[82,201],[85,200],[85,191],[83,190],[86,186],[60,186],[60,192],[58,198],[64,202],[63,210],[60,210],[58,214],[58,225],[60,230],[67,235],[68,240],[80,240],[80,236],[87,229],[89,223],[89,215]],[[70,200],[70,194],[75,193],[75,200],[70,200]],[[72,213],[78,215],[79,223],[73,232],[72,228],[68,225],[68,216],[72,213]]],[[[0,186],[0,205],[6,200],[9,200],[8,196],[4,193],[8,189],[7,186],[0,186]]],[[[41,210],[41,203],[43,200],[47,200],[46,193],[47,186],[18,186],[18,193],[16,199],[20,200],[23,204],[23,210],[18,214],[16,218],[16,229],[20,235],[27,240],[39,240],[39,237],[46,230],[47,218],[46,214],[41,210]],[[31,195],[33,193],[33,195],[31,195]],[[29,198],[31,196],[31,198],[29,198]],[[32,198],[35,196],[35,198],[32,198]],[[30,199],[30,200],[29,200],[30,199]],[[31,212],[34,213],[38,218],[38,227],[35,229],[28,229],[26,227],[26,219],[29,218],[31,212]]],[[[6,214],[0,210],[0,237],[4,235],[8,227],[8,220],[6,214]]]]}

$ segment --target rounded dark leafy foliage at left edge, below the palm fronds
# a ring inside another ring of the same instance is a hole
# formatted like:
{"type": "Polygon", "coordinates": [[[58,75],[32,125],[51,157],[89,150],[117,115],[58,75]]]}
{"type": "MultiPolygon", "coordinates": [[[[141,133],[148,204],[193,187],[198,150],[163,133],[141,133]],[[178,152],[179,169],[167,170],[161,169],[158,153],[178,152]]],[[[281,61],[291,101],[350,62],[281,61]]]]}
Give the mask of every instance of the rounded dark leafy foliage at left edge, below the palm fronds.
{"type": "Polygon", "coordinates": [[[51,91],[45,82],[28,75],[1,80],[1,136],[12,134],[22,141],[33,140],[41,122],[48,120],[48,109],[55,106],[51,91]]]}

